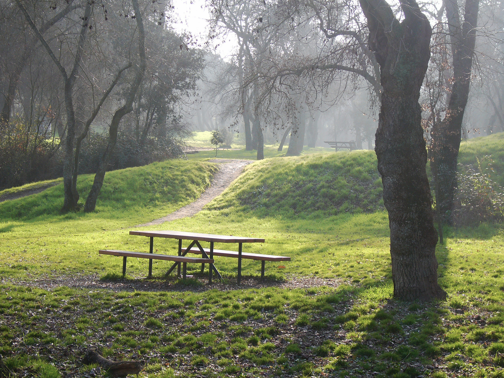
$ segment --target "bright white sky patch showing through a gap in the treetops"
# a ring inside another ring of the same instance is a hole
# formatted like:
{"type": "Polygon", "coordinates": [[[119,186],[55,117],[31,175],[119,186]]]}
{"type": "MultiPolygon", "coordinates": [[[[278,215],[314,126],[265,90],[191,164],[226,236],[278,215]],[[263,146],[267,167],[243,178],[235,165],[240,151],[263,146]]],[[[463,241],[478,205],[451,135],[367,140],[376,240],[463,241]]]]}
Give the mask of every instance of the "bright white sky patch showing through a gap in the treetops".
{"type": "MultiPolygon", "coordinates": [[[[205,0],[172,0],[175,7],[173,28],[178,31],[189,31],[198,39],[198,43],[206,41],[208,35],[208,20],[210,13],[205,7],[205,0]]],[[[232,41],[232,36],[228,36],[225,41],[215,39],[210,43],[212,49],[221,55],[225,60],[229,58],[236,47],[232,41]],[[231,39],[231,40],[230,40],[231,39]],[[215,46],[217,48],[215,48],[215,46]]]]}

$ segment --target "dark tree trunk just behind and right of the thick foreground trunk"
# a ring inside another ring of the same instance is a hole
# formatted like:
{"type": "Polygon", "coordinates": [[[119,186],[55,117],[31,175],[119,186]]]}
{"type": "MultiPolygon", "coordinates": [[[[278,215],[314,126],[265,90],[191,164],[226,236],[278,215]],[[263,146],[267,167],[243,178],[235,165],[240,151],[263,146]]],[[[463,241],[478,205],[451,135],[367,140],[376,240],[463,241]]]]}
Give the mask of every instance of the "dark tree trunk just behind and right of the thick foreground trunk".
{"type": "Polygon", "coordinates": [[[459,156],[462,121],[469,98],[471,68],[476,43],[479,0],[466,0],[464,23],[461,25],[457,0],[446,0],[446,14],[453,54],[453,86],[447,113],[442,122],[432,128],[432,149],[437,158],[439,211],[448,223],[457,192],[457,159],[459,156]]]}

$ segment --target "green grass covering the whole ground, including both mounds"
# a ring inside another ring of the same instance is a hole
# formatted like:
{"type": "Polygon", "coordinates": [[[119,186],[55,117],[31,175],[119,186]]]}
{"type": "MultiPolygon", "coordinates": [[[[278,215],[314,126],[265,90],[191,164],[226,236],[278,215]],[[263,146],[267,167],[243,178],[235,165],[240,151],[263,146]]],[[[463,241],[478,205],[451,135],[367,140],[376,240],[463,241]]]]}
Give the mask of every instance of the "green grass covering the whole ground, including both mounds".
{"type": "MultiPolygon", "coordinates": [[[[473,161],[471,148],[495,140],[468,142],[461,160],[473,161]]],[[[215,169],[211,162],[109,172],[92,214],[60,215],[58,186],[0,204],[0,353],[6,366],[20,376],[106,375],[81,362],[86,346],[95,345],[107,358],[139,360],[141,375],[152,378],[504,375],[499,225],[445,227],[436,257],[448,300],[394,300],[390,231],[375,167],[367,151],[266,159],[249,165],[206,210],[163,225],[260,235],[267,242],[246,251],[293,258],[285,269],[267,264],[265,283],[260,265],[244,261],[249,285],[243,287],[234,285],[236,261],[220,259],[225,282],[213,287],[198,266],[190,269],[193,279],[166,281],[168,265],[155,261],[145,291],[100,288],[136,285],[148,262],[130,259],[122,278],[120,259],[101,257],[97,249],[147,251],[148,238],[128,230],[197,197],[215,169]],[[339,185],[340,197],[326,185],[339,185]],[[43,288],[66,277],[67,286],[43,288]],[[68,287],[77,277],[96,284],[68,287]],[[300,278],[304,285],[289,284],[300,278]]],[[[80,189],[91,180],[81,176],[80,189]]],[[[159,252],[173,253],[175,244],[155,240],[159,252]]]]}

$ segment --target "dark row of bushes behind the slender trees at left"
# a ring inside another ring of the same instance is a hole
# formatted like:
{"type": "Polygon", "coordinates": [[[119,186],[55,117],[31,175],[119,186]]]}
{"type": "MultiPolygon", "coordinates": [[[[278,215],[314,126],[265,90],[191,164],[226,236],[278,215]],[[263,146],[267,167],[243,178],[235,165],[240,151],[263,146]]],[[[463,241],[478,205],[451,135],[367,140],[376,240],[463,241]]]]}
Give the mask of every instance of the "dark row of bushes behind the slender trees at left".
{"type": "MultiPolygon", "coordinates": [[[[20,123],[0,131],[0,190],[29,182],[62,176],[63,146],[59,138],[30,132],[20,123]]],[[[108,134],[90,132],[83,141],[79,173],[95,173],[108,143],[108,134]]],[[[147,137],[143,143],[135,135],[121,133],[107,170],[150,164],[185,156],[183,142],[167,136],[147,137]]]]}

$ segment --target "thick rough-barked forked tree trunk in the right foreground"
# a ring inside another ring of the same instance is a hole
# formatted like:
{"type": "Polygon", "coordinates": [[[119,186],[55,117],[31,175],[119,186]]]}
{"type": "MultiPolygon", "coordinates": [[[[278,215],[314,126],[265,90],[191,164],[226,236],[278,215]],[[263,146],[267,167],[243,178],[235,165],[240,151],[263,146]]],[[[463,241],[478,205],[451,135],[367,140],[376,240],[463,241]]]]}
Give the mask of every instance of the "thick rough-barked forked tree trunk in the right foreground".
{"type": "Polygon", "coordinates": [[[402,22],[384,0],[360,0],[384,90],[375,152],[389,212],[394,297],[429,300],[446,297],[437,283],[437,233],[418,104],[432,29],[414,0],[400,3],[402,22]]]}

